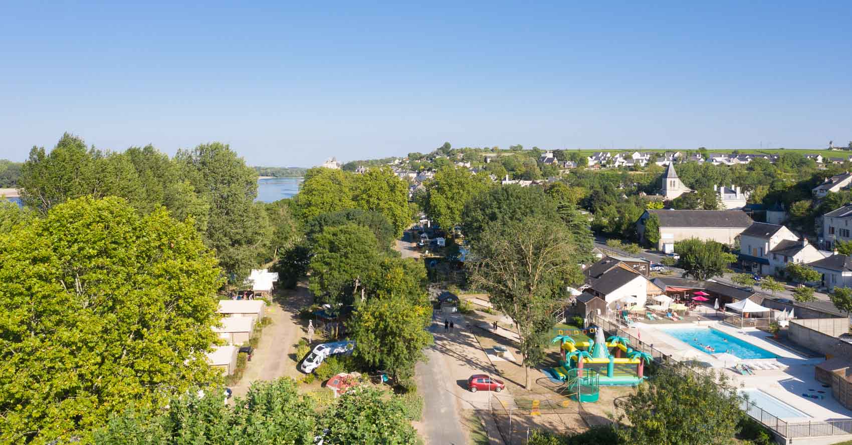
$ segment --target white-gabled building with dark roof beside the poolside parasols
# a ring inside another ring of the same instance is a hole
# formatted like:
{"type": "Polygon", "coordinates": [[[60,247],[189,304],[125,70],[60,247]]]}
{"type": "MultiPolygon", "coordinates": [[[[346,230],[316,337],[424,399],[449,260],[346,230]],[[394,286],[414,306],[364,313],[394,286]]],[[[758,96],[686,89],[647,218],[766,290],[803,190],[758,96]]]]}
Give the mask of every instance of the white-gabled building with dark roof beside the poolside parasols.
{"type": "Polygon", "coordinates": [[[607,308],[616,309],[616,305],[625,304],[632,297],[636,305],[645,305],[648,297],[663,293],[648,277],[634,271],[630,266],[619,264],[604,272],[600,277],[587,278],[585,292],[604,300],[607,308]]]}

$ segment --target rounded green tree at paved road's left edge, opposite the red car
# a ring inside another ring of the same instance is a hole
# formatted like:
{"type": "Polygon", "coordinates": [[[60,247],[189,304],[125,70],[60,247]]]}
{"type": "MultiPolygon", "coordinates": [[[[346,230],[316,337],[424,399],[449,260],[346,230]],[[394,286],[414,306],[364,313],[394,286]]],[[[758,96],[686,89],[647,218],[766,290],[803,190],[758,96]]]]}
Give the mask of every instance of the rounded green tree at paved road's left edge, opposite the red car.
{"type": "Polygon", "coordinates": [[[414,365],[432,344],[426,328],[432,317],[429,305],[412,305],[400,295],[368,300],[347,322],[355,340],[354,356],[371,368],[386,369],[394,382],[414,375],[414,365]]]}

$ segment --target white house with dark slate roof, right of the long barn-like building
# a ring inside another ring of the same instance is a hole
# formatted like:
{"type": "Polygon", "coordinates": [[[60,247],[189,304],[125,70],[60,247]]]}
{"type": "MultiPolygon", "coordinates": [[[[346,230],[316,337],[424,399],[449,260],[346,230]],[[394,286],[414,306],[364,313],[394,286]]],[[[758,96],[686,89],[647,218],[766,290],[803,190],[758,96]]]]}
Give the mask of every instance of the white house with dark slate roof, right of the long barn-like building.
{"type": "Polygon", "coordinates": [[[774,275],[788,263],[825,258],[808,240],[784,225],[754,223],[740,234],[740,264],[746,271],[774,275]]]}

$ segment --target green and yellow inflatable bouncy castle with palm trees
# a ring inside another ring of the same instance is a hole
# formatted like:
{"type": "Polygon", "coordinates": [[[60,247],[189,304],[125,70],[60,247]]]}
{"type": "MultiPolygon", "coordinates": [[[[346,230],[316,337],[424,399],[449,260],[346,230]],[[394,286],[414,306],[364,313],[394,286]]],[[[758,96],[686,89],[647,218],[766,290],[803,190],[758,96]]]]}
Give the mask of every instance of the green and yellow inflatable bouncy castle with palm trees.
{"type": "Polygon", "coordinates": [[[562,360],[552,373],[569,382],[572,375],[582,379],[592,370],[598,374],[598,385],[637,385],[645,379],[645,363],[651,361],[647,352],[630,348],[629,339],[613,335],[605,341],[601,328],[595,329],[595,339],[576,341],[570,335],[558,335],[551,340],[557,341],[561,343],[562,360]]]}

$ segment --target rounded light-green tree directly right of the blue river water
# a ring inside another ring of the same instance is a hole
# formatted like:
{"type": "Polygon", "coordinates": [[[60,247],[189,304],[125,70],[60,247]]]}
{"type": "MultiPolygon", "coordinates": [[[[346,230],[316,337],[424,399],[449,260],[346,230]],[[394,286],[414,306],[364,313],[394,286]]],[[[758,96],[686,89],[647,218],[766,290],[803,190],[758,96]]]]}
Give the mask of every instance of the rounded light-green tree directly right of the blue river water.
{"type": "Polygon", "coordinates": [[[354,208],[353,174],[331,168],[311,168],[305,174],[302,188],[296,195],[296,203],[302,220],[310,220],[320,214],[354,208]]]}

